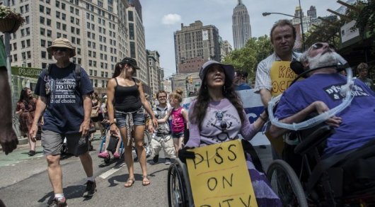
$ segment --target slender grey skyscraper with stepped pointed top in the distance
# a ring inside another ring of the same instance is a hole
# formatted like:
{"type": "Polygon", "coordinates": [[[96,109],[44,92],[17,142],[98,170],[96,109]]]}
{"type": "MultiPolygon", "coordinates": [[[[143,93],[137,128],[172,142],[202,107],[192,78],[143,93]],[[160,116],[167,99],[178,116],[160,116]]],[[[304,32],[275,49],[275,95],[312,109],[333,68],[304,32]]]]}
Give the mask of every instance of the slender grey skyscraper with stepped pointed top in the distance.
{"type": "Polygon", "coordinates": [[[233,9],[232,22],[234,49],[239,49],[245,46],[248,39],[251,38],[248,9],[241,0],[238,0],[237,6],[233,9]]]}

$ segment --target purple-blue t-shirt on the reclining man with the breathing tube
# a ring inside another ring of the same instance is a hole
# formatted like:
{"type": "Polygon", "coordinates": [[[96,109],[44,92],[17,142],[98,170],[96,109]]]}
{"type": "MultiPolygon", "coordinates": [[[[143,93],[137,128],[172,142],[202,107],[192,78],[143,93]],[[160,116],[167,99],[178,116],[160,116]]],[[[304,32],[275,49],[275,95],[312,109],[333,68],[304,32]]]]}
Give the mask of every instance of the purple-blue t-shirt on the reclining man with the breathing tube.
{"type": "MultiPolygon", "coordinates": [[[[340,74],[313,74],[296,82],[284,91],[277,106],[275,117],[282,120],[306,108],[314,101],[323,101],[328,108],[342,103],[340,86],[346,77],[340,74]]],[[[324,157],[361,147],[375,139],[375,94],[364,83],[354,80],[352,104],[336,116],[342,123],[328,138],[324,157]]]]}

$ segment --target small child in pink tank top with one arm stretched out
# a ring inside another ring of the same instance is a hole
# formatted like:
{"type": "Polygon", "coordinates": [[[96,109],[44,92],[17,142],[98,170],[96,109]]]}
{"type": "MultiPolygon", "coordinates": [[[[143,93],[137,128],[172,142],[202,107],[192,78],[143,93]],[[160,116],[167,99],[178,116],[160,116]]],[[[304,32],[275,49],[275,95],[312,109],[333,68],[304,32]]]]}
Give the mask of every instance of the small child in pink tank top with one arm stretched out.
{"type": "Polygon", "coordinates": [[[178,156],[178,150],[182,148],[185,124],[186,128],[189,128],[188,111],[180,106],[183,101],[183,91],[181,89],[175,90],[170,96],[170,101],[171,106],[173,107],[172,110],[168,111],[168,114],[164,118],[158,119],[158,123],[165,123],[168,121],[169,116],[172,116],[171,130],[173,145],[175,147],[175,154],[178,156]]]}

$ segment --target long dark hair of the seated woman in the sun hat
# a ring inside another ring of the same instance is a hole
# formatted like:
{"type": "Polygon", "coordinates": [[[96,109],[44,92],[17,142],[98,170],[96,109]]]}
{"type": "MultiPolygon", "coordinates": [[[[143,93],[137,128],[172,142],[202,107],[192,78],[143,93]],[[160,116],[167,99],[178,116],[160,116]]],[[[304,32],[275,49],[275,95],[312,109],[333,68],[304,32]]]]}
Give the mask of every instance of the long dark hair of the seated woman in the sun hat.
{"type": "MultiPolygon", "coordinates": [[[[224,97],[226,97],[226,99],[233,104],[234,108],[236,108],[238,116],[240,116],[241,123],[243,123],[246,116],[243,114],[241,99],[234,90],[233,84],[230,83],[228,79],[225,79],[224,86],[221,89],[224,97]]],[[[200,90],[198,91],[197,101],[195,102],[194,108],[192,108],[192,117],[190,118],[191,123],[197,124],[200,130],[202,130],[202,122],[210,102],[210,97],[206,87],[207,79],[204,77],[200,90]]]]}

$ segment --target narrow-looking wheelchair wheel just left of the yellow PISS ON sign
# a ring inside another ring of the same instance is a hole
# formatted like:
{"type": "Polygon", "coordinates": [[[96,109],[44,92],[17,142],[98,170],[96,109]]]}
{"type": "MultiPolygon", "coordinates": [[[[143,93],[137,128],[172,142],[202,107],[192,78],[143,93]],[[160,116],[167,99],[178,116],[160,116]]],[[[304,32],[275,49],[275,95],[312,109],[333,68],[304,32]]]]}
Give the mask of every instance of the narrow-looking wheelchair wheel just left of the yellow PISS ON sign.
{"type": "Polygon", "coordinates": [[[177,164],[172,163],[168,169],[168,206],[188,206],[183,175],[177,164]]]}

